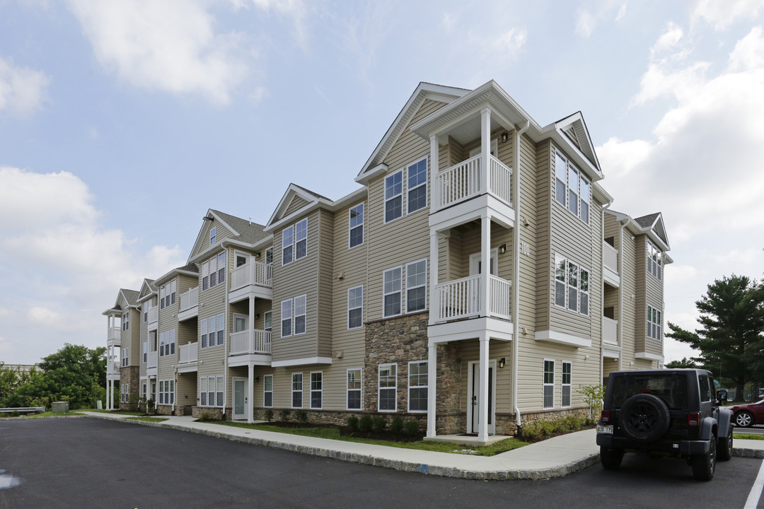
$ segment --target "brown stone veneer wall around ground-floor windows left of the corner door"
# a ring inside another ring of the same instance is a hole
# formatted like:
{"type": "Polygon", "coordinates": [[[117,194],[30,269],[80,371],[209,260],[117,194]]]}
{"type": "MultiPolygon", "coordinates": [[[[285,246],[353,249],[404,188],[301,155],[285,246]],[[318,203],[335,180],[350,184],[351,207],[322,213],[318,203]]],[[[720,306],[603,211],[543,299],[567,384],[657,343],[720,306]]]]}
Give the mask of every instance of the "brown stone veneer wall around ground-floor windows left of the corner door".
{"type": "MultiPolygon", "coordinates": [[[[384,416],[400,414],[404,420],[416,418],[426,427],[427,417],[422,413],[410,413],[408,408],[409,362],[427,360],[427,321],[429,313],[406,314],[366,324],[366,362],[364,365],[364,408],[384,416]],[[377,412],[378,372],[380,364],[397,364],[397,412],[377,412]]],[[[435,423],[440,434],[458,433],[464,430],[464,414],[459,410],[461,394],[461,348],[458,344],[437,348],[437,402],[435,423]]]]}

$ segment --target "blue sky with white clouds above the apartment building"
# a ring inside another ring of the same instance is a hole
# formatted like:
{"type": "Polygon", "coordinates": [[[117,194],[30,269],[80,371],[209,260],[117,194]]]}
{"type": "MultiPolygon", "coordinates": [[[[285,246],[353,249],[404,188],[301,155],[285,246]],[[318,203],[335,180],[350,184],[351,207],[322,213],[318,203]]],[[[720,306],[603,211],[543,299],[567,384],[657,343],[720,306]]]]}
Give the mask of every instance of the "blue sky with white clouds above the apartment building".
{"type": "Polygon", "coordinates": [[[419,81],[582,111],[612,208],[663,212],[692,329],[708,283],[764,271],[762,25],[759,0],[0,0],[0,361],[105,345],[207,208],[354,190],[419,81]]]}

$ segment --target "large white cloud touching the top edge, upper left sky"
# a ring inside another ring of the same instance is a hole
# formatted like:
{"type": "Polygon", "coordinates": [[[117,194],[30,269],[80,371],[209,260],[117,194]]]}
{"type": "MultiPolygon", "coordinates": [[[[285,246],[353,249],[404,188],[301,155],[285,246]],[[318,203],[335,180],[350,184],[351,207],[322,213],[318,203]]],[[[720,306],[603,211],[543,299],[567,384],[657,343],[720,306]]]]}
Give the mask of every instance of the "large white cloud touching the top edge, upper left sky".
{"type": "Polygon", "coordinates": [[[228,104],[248,69],[238,34],[215,33],[205,2],[70,0],[96,60],[138,88],[228,104]]]}

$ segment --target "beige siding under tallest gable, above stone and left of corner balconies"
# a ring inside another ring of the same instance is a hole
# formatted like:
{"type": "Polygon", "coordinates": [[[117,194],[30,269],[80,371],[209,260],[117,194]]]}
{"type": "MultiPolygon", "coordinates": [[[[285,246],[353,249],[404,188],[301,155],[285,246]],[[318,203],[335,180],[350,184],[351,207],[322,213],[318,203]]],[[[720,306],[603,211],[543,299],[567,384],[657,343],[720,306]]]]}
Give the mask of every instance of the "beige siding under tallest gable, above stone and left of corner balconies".
{"type": "MultiPolygon", "coordinates": [[[[444,104],[441,102],[426,100],[422,103],[419,111],[414,114],[410,124],[432,114],[444,104]]],[[[411,132],[407,127],[396,141],[390,152],[384,159],[384,163],[390,168],[386,175],[381,176],[369,183],[369,198],[367,201],[367,249],[368,262],[368,288],[364,288],[364,311],[366,321],[379,320],[382,318],[382,277],[383,272],[397,266],[404,266],[419,259],[429,258],[429,201],[428,207],[422,208],[413,214],[407,214],[406,203],[406,166],[416,163],[422,157],[428,157],[427,162],[427,185],[432,185],[432,168],[429,160],[429,142],[411,132]],[[384,179],[395,172],[404,169],[403,172],[403,217],[384,224],[384,179]]],[[[429,200],[428,188],[428,200],[429,200]]],[[[431,270],[431,260],[428,259],[428,272],[431,270]]],[[[404,274],[405,278],[405,274],[404,274]]],[[[428,277],[429,282],[429,277],[428,277]]],[[[403,281],[405,292],[405,280],[403,281]]],[[[429,292],[428,292],[429,293],[429,292]]],[[[404,294],[405,295],[405,294],[404,294]]],[[[428,302],[429,308],[429,302],[428,302]]]]}

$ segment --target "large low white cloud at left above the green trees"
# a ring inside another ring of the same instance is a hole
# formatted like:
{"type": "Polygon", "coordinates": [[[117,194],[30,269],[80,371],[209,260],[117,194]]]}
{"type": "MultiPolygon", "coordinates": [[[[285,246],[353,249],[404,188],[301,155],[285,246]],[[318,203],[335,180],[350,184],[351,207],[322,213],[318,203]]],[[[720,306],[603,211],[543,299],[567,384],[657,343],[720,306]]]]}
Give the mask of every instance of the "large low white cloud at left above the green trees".
{"type": "Polygon", "coordinates": [[[138,289],[184,263],[177,246],[140,253],[104,227],[95,197],[71,173],[0,166],[0,188],[0,336],[24,356],[11,362],[36,362],[66,341],[100,346],[100,312],[118,288],[138,289]]]}

